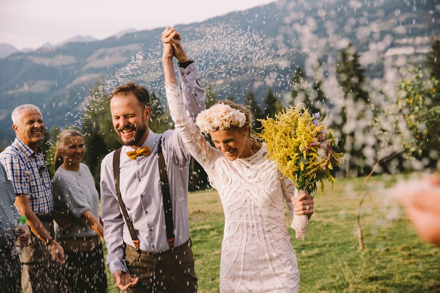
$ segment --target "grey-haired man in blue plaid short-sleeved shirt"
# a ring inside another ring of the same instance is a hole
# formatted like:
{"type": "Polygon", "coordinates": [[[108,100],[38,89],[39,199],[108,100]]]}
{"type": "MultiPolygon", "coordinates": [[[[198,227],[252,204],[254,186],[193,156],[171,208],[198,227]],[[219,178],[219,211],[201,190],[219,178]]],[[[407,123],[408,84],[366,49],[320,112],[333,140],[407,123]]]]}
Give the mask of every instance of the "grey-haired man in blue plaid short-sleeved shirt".
{"type": "Polygon", "coordinates": [[[43,140],[44,123],[35,105],[21,105],[12,112],[16,139],[0,154],[15,190],[15,205],[27,218],[32,231],[30,244],[20,255],[24,293],[57,292],[54,264],[64,262],[63,248],[53,236],[53,194],[49,172],[38,143],[43,140]]]}

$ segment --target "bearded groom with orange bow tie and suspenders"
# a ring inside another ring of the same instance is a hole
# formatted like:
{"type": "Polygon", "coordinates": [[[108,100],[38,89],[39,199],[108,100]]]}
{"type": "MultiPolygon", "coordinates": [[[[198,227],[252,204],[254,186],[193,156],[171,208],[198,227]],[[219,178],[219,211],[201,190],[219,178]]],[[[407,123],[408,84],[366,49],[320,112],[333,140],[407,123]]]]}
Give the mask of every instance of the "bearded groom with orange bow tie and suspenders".
{"type": "MultiPolygon", "coordinates": [[[[167,27],[162,39],[174,29],[167,27]]],[[[180,42],[174,54],[188,114],[205,107],[198,68],[180,42]]],[[[107,265],[116,285],[128,292],[197,292],[188,225],[190,153],[179,133],[148,127],[148,90],[128,83],[110,94],[112,123],[122,148],[101,165],[101,204],[107,265]]]]}

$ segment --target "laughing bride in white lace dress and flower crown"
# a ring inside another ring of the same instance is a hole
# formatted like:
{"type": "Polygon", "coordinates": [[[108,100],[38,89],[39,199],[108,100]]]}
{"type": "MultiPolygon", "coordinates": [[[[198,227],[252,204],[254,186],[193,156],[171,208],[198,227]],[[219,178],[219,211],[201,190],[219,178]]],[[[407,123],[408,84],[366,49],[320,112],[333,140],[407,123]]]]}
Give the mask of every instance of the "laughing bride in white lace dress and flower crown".
{"type": "Polygon", "coordinates": [[[283,201],[292,217],[310,217],[313,201],[303,194],[292,203],[294,184],[266,158],[264,144],[251,134],[252,115],[243,105],[219,102],[198,115],[197,125],[188,118],[173,66],[174,54],[185,54],[179,40],[174,29],[162,34],[166,95],[183,142],[220,195],[225,217],[220,292],[298,292],[297,259],[283,201]],[[209,133],[215,147],[202,132],[209,133]]]}

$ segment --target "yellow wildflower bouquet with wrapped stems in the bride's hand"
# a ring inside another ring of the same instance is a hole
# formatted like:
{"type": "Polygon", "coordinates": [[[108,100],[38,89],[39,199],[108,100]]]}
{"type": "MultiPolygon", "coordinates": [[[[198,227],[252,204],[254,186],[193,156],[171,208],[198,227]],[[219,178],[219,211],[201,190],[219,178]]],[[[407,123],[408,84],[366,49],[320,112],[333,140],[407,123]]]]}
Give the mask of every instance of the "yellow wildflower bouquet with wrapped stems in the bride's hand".
{"type": "MultiPolygon", "coordinates": [[[[320,113],[310,116],[304,105],[289,107],[275,115],[275,119],[261,120],[258,136],[264,141],[269,158],[274,160],[285,176],[295,183],[295,200],[303,191],[312,195],[316,183],[324,179],[333,187],[331,171],[340,166],[342,153],[335,152],[338,139],[333,130],[322,123],[320,113]]],[[[296,239],[304,239],[308,216],[295,215],[293,226],[296,239]]]]}

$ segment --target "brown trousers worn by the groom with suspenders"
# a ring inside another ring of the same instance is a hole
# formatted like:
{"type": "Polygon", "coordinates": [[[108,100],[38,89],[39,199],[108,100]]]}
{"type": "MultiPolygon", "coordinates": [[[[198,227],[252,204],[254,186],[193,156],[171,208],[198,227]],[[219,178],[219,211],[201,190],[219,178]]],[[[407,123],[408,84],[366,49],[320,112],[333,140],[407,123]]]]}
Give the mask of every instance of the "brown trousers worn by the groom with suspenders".
{"type": "Polygon", "coordinates": [[[127,245],[125,261],[130,274],[139,277],[137,286],[126,292],[197,292],[198,279],[189,241],[161,253],[141,251],[140,257],[134,247],[127,245]]]}

